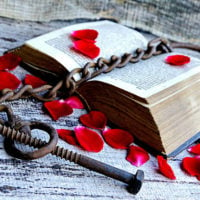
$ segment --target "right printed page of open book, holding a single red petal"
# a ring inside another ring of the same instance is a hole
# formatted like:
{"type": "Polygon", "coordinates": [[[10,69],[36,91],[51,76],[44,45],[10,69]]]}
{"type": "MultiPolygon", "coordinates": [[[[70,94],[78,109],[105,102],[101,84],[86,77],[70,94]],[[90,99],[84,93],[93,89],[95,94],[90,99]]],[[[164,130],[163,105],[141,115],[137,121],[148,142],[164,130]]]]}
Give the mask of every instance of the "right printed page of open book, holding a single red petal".
{"type": "Polygon", "coordinates": [[[200,59],[195,57],[190,56],[190,63],[184,66],[165,63],[165,58],[173,54],[177,53],[162,54],[138,63],[129,63],[124,68],[114,69],[92,80],[106,82],[145,98],[200,73],[200,59]]]}

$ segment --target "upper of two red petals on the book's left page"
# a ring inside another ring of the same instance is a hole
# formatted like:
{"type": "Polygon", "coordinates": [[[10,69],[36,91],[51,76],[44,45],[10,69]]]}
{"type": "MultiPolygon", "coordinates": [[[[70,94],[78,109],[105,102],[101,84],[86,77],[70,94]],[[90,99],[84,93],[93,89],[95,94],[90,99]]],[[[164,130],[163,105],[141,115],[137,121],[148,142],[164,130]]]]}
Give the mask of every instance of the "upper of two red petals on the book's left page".
{"type": "Polygon", "coordinates": [[[98,32],[93,29],[84,29],[84,30],[73,31],[71,33],[71,36],[77,39],[95,40],[98,36],[98,32]]]}

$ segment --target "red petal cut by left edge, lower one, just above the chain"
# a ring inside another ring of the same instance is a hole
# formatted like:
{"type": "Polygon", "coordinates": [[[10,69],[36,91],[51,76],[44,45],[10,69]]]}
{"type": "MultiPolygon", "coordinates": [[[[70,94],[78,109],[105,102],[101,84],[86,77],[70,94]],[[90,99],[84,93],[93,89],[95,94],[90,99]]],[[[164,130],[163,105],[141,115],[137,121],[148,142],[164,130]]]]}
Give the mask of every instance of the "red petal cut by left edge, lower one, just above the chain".
{"type": "Polygon", "coordinates": [[[21,81],[9,72],[0,72],[0,90],[5,88],[16,89],[19,87],[21,81]]]}

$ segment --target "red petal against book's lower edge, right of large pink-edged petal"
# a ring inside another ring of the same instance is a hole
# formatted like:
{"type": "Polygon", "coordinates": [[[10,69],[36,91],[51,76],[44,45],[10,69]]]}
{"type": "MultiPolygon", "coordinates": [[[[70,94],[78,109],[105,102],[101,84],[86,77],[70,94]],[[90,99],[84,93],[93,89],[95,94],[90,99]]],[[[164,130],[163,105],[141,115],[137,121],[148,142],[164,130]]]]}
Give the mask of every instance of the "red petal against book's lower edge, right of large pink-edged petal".
{"type": "Polygon", "coordinates": [[[105,141],[113,148],[127,149],[133,142],[133,136],[121,129],[108,129],[103,131],[105,141]]]}

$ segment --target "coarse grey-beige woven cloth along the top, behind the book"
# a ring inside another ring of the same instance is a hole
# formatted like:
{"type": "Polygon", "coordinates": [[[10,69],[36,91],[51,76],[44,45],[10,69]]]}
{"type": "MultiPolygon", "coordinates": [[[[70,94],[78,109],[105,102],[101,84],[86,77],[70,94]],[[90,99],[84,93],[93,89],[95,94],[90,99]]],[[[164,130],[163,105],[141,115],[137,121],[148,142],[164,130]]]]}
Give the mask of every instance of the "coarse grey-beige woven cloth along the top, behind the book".
{"type": "Polygon", "coordinates": [[[48,21],[75,18],[114,18],[173,40],[200,43],[199,0],[1,0],[0,16],[48,21]]]}

